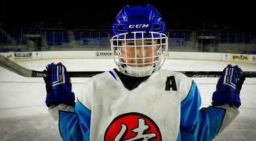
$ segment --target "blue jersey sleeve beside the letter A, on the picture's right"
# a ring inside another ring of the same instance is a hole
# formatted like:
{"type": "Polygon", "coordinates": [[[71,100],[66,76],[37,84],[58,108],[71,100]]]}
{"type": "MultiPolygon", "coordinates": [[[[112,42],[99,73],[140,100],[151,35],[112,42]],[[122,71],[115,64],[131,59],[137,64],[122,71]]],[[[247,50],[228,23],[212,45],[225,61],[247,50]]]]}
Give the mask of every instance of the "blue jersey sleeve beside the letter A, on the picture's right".
{"type": "Polygon", "coordinates": [[[181,102],[178,140],[213,140],[239,113],[237,109],[228,105],[209,106],[199,110],[200,106],[200,92],[193,81],[188,95],[181,102]]]}

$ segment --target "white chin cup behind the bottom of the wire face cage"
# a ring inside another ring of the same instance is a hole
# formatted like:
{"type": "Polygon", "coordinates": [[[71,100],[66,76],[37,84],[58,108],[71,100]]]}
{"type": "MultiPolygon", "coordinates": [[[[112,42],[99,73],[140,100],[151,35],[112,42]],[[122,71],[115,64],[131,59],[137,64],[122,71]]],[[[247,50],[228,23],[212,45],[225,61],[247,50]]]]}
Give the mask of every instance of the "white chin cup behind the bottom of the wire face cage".
{"type": "Polygon", "coordinates": [[[151,75],[153,73],[154,67],[153,66],[144,66],[144,67],[132,67],[127,66],[126,71],[129,75],[134,77],[144,77],[151,75]]]}

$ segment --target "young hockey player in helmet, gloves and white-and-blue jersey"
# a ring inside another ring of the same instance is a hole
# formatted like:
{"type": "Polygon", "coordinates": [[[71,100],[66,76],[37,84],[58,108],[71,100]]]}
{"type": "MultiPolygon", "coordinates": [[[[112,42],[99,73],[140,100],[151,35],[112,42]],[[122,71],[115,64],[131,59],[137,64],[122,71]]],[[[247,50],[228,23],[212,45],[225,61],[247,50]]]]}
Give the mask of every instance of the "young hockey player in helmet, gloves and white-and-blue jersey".
{"type": "Polygon", "coordinates": [[[212,140],[238,115],[245,77],[228,65],[200,110],[196,83],[160,69],[167,56],[165,22],[152,6],[125,6],[112,25],[117,68],[91,77],[75,102],[62,64],[45,78],[49,112],[63,140],[212,140]]]}

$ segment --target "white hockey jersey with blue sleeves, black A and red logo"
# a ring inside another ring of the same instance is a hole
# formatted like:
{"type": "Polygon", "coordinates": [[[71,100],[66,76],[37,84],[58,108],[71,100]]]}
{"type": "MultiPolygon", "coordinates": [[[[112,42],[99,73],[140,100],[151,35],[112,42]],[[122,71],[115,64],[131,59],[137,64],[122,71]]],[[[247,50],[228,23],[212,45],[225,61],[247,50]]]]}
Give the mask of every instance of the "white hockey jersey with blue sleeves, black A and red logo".
{"type": "Polygon", "coordinates": [[[200,108],[196,83],[160,70],[127,90],[114,70],[95,75],[75,108],[51,107],[63,140],[212,140],[238,115],[235,106],[200,108]]]}

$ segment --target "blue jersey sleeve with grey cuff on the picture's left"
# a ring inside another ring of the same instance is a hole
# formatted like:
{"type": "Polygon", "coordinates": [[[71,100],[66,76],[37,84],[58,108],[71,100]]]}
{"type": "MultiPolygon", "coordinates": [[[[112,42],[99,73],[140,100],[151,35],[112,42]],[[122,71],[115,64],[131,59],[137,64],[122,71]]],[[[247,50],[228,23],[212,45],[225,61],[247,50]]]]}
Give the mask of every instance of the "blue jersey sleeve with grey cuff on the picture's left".
{"type": "Polygon", "coordinates": [[[56,120],[58,120],[58,127],[62,139],[89,141],[91,110],[87,109],[79,101],[75,103],[73,110],[72,108],[71,106],[60,104],[53,109],[58,110],[58,118],[56,120]]]}

